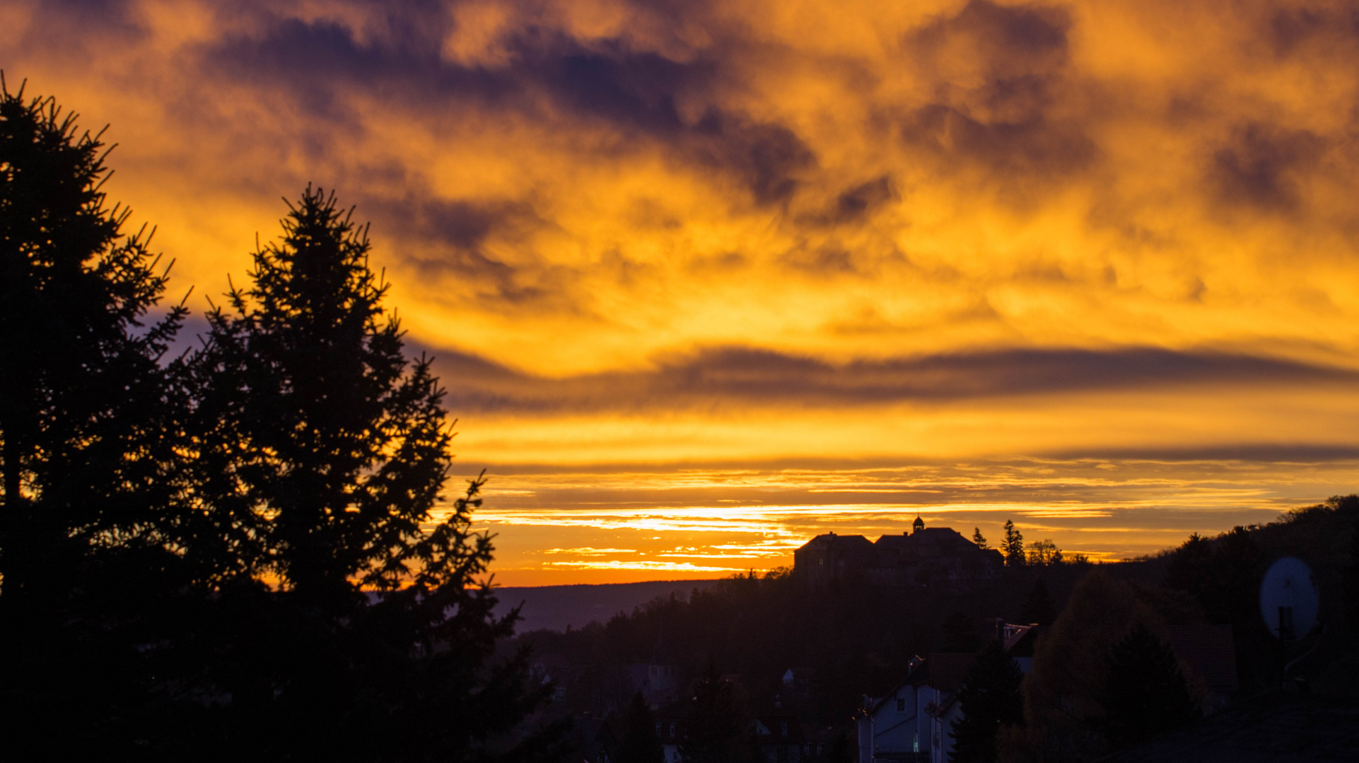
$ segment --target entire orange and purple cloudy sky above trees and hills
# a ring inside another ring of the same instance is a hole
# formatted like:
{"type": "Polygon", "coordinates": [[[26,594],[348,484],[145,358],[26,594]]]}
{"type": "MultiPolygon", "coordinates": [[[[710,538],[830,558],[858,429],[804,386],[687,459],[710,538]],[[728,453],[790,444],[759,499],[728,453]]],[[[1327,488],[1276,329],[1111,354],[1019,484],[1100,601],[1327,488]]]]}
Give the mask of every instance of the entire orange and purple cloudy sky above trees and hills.
{"type": "Polygon", "coordinates": [[[110,125],[175,300],[308,182],[372,221],[503,584],[768,569],[917,510],[1114,559],[1359,490],[1352,3],[7,0],[0,30],[11,91],[110,125]]]}

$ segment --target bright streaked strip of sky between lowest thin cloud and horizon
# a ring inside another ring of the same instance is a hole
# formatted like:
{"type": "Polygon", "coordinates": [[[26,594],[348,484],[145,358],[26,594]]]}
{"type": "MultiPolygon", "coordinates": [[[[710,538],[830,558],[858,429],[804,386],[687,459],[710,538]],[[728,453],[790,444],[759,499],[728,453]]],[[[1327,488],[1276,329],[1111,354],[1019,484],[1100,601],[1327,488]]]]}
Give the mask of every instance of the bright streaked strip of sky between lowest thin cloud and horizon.
{"type": "Polygon", "coordinates": [[[1021,459],[867,468],[492,471],[477,528],[496,534],[501,585],[713,578],[792,566],[824,532],[980,528],[995,547],[1012,520],[1027,542],[1120,561],[1264,524],[1348,490],[1359,458],[1021,459]],[[1250,474],[1246,483],[1241,472],[1250,474]],[[841,498],[855,502],[841,502],[841,498]],[[586,546],[586,542],[599,546],[586,546]],[[580,542],[578,546],[576,542],[580,542]]]}

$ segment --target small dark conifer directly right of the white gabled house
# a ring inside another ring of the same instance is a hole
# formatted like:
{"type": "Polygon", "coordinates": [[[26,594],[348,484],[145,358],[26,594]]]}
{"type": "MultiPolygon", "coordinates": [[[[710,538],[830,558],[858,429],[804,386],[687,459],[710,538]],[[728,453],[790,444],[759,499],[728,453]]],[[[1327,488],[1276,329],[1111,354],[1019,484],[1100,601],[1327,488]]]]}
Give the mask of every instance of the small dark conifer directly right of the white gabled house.
{"type": "Polygon", "coordinates": [[[1023,724],[1019,665],[999,641],[989,641],[977,654],[958,691],[962,718],[953,722],[953,763],[992,763],[996,732],[1002,724],[1023,724]]]}

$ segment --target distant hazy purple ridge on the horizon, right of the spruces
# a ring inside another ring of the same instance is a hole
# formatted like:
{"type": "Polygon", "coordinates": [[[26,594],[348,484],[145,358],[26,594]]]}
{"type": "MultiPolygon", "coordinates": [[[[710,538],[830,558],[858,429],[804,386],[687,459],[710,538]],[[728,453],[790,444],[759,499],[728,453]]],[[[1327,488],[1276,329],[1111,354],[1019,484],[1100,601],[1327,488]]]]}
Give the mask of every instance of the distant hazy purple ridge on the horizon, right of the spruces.
{"type": "Polygon", "coordinates": [[[708,591],[715,580],[654,580],[647,582],[617,582],[602,585],[542,585],[523,588],[497,588],[496,615],[504,616],[511,608],[522,606],[523,618],[515,630],[560,630],[582,629],[591,622],[605,623],[622,612],[652,599],[670,599],[671,595],[688,599],[694,591],[708,591]]]}

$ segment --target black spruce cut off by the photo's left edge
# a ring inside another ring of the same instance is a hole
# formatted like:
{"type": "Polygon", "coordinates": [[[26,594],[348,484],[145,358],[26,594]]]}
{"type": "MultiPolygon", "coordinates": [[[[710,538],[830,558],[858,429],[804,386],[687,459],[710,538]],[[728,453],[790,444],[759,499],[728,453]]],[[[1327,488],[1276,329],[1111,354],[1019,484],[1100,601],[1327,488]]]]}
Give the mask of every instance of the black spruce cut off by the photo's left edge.
{"type": "Polygon", "coordinates": [[[160,360],[183,310],[107,151],[52,98],[0,81],[0,717],[7,751],[126,753],[164,715],[159,663],[183,582],[183,396],[160,360]],[[159,683],[155,676],[159,676],[159,683]]]}

